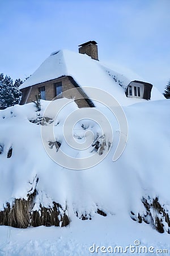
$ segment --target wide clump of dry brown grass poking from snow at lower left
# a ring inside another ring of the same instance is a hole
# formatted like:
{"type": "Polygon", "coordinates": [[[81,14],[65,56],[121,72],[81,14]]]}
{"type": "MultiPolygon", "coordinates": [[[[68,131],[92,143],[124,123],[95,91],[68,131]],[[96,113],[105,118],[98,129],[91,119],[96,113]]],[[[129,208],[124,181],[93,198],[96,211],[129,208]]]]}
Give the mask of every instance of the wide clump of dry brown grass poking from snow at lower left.
{"type": "Polygon", "coordinates": [[[28,195],[28,199],[16,199],[12,208],[7,203],[6,208],[0,211],[0,225],[14,228],[28,228],[28,226],[67,226],[70,223],[66,210],[53,202],[53,208],[41,207],[40,211],[33,211],[34,199],[37,192],[28,195]]]}

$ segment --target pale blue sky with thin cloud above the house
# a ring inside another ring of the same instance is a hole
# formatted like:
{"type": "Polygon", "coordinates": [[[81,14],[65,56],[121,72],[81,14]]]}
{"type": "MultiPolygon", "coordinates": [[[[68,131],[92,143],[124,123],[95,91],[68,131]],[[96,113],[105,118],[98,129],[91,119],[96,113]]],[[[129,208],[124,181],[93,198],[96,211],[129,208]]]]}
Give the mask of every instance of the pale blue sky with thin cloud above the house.
{"type": "Polygon", "coordinates": [[[99,59],[163,92],[170,79],[169,0],[1,0],[0,72],[31,75],[57,49],[96,40],[99,59]]]}

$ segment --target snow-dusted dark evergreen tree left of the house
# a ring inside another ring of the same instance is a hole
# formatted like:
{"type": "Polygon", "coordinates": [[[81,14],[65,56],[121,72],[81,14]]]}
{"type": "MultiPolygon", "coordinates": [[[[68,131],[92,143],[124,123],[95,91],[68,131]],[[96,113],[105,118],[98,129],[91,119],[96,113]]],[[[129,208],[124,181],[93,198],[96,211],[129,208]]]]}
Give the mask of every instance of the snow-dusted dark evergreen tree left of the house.
{"type": "Polygon", "coordinates": [[[19,85],[22,80],[16,79],[13,83],[10,76],[5,76],[3,73],[0,75],[0,109],[8,108],[19,103],[21,93],[19,85]]]}

